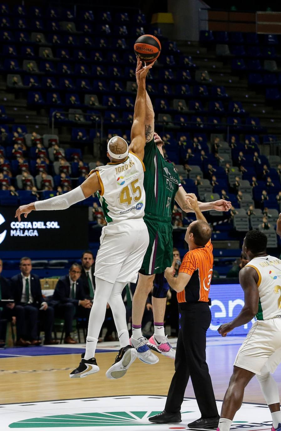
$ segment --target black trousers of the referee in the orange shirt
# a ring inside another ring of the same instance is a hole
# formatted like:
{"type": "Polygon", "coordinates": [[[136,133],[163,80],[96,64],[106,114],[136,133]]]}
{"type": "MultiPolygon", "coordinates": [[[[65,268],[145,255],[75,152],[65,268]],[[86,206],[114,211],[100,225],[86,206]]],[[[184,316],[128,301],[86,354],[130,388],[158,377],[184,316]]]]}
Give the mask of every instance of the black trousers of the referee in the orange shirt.
{"type": "Polygon", "coordinates": [[[202,418],[218,415],[212,381],[206,362],[206,331],[211,323],[207,303],[179,304],[180,330],[176,346],[175,374],[167,396],[165,410],[179,412],[185,388],[191,377],[202,418]]]}

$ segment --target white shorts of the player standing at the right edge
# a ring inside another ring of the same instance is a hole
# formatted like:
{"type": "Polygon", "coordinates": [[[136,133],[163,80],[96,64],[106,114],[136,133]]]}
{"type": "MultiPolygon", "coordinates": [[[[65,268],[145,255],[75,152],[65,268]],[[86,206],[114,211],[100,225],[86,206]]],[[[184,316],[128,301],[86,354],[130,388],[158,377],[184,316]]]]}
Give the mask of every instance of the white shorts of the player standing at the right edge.
{"type": "Polygon", "coordinates": [[[234,364],[255,374],[275,372],[281,363],[281,318],[257,320],[238,350],[234,364]]]}

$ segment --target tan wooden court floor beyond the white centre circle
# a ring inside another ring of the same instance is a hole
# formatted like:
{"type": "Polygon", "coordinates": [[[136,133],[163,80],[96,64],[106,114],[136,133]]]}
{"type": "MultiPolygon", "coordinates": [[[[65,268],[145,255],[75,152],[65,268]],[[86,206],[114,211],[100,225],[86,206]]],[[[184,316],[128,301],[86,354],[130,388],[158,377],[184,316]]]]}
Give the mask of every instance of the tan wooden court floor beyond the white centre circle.
{"type": "MultiPolygon", "coordinates": [[[[238,348],[239,345],[207,347],[216,400],[224,397],[238,348]]],[[[0,359],[0,404],[116,395],[167,395],[174,371],[172,359],[159,355],[160,360],[155,365],[136,359],[123,378],[108,380],[105,372],[115,356],[115,352],[97,353],[99,373],[83,379],[68,377],[80,361],[79,354],[0,359]]],[[[275,372],[275,380],[281,393],[280,367],[275,372]]],[[[190,381],[185,396],[194,397],[190,381]]],[[[256,378],[246,388],[244,401],[264,403],[256,378]]]]}

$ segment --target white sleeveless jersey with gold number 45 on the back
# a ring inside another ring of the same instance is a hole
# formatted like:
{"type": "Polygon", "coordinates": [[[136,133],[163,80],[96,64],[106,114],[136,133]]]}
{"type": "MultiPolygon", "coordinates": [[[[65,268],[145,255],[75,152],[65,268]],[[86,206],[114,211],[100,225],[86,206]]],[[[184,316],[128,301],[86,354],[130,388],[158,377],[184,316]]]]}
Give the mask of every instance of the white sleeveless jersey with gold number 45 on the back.
{"type": "Polygon", "coordinates": [[[101,192],[98,193],[107,223],[142,219],[145,213],[145,166],[131,151],[127,159],[95,169],[101,192]]]}

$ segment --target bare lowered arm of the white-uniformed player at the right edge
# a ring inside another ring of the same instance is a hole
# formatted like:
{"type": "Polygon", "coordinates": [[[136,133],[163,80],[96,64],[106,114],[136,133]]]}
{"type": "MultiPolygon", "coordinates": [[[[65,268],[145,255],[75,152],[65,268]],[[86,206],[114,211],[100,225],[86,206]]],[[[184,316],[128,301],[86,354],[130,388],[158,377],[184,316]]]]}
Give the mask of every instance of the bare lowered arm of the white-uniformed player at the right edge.
{"type": "Polygon", "coordinates": [[[259,289],[257,286],[259,276],[256,270],[250,266],[245,266],[239,272],[239,283],[244,291],[244,307],[232,322],[221,325],[218,329],[219,334],[225,337],[230,331],[238,326],[250,322],[258,312],[259,308],[259,289]]]}

